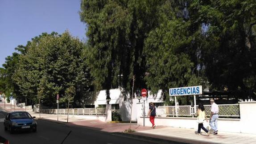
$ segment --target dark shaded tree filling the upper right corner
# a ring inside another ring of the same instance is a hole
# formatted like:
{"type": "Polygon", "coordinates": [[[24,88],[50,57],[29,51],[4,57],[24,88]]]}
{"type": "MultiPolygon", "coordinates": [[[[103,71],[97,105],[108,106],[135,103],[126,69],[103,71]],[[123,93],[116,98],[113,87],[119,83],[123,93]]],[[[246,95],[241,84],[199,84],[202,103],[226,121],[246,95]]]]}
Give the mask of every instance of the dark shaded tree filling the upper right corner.
{"type": "Polygon", "coordinates": [[[190,4],[194,44],[211,89],[255,97],[256,3],[254,0],[195,0],[190,4]]]}

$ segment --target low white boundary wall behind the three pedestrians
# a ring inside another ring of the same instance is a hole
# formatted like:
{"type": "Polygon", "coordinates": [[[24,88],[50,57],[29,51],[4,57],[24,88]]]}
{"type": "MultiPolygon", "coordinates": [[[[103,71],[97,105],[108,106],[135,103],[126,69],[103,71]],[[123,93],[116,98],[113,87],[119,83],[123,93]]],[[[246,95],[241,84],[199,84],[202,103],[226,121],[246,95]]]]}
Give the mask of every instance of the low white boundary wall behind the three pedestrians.
{"type": "MultiPolygon", "coordinates": [[[[223,132],[239,132],[256,134],[256,102],[239,102],[240,119],[218,119],[218,130],[223,132]]],[[[138,113],[141,108],[138,107],[138,113]]],[[[145,109],[147,115],[148,110],[145,109]]],[[[138,115],[138,125],[143,125],[143,117],[138,115]]],[[[209,117],[208,117],[209,120],[209,117]]],[[[155,124],[158,126],[168,126],[174,128],[192,128],[197,130],[198,123],[196,118],[182,117],[156,117],[155,124]]],[[[152,127],[149,117],[145,118],[145,126],[152,127]]],[[[209,124],[204,123],[204,126],[209,129],[209,124]]]]}

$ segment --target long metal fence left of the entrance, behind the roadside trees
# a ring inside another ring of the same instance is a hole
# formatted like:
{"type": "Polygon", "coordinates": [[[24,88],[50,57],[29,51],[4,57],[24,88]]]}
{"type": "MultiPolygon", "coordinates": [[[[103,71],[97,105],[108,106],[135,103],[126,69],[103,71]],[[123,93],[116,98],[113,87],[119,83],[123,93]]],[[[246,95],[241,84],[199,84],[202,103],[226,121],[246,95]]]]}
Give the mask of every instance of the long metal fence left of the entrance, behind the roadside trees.
{"type": "MultiPolygon", "coordinates": [[[[41,113],[57,114],[57,109],[41,109],[41,113]]],[[[58,109],[58,114],[70,115],[106,115],[106,108],[70,108],[58,109]]]]}

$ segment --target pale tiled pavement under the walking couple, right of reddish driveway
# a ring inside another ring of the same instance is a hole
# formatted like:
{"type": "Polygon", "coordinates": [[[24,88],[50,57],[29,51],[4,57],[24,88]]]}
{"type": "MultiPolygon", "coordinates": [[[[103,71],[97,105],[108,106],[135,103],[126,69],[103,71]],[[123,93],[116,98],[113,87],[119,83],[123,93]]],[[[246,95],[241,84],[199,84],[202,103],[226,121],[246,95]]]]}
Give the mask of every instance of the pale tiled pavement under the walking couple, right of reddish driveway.
{"type": "Polygon", "coordinates": [[[164,140],[175,140],[178,142],[190,144],[256,144],[255,134],[218,132],[218,135],[206,136],[205,132],[202,135],[196,135],[194,129],[185,128],[156,128],[146,131],[133,132],[139,136],[154,136],[164,140]]]}

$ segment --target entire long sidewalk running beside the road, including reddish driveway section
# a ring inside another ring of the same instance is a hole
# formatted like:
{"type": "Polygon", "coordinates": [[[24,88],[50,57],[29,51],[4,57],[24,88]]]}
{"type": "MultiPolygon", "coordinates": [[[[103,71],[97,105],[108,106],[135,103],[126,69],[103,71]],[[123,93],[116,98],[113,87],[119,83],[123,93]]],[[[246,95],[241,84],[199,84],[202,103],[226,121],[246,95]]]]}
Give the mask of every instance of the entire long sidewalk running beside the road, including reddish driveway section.
{"type": "MultiPolygon", "coordinates": [[[[2,105],[0,104],[2,107],[2,105]]],[[[218,135],[206,136],[205,132],[202,135],[196,135],[194,129],[185,128],[171,128],[157,126],[153,129],[151,127],[137,126],[137,123],[132,123],[131,129],[136,132],[124,133],[125,129],[130,127],[130,123],[105,123],[99,120],[76,118],[75,115],[69,116],[69,123],[66,123],[67,115],[41,114],[33,111],[28,111],[37,119],[50,120],[58,123],[65,123],[66,125],[89,128],[102,132],[111,132],[114,135],[128,136],[136,139],[152,140],[157,143],[170,143],[177,141],[189,144],[256,144],[255,134],[232,133],[232,132],[218,132],[218,135]]],[[[147,119],[146,119],[147,120],[147,119]]]]}

